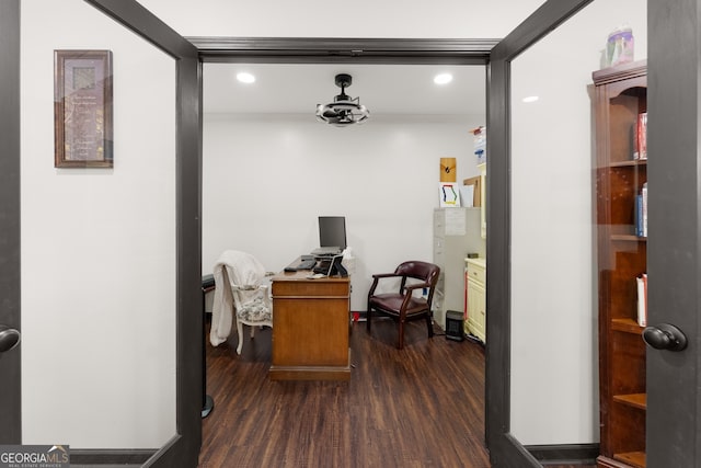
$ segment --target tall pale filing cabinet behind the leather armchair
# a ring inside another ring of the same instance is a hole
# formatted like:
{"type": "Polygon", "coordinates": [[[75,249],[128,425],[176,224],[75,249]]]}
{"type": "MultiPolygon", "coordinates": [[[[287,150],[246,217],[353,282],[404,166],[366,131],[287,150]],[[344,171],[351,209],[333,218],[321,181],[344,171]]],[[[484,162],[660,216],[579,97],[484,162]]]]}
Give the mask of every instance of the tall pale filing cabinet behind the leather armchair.
{"type": "Polygon", "coordinates": [[[484,256],[480,208],[436,208],[434,212],[434,263],[440,276],[434,294],[434,320],[444,330],[446,311],[464,308],[464,258],[484,256]]]}

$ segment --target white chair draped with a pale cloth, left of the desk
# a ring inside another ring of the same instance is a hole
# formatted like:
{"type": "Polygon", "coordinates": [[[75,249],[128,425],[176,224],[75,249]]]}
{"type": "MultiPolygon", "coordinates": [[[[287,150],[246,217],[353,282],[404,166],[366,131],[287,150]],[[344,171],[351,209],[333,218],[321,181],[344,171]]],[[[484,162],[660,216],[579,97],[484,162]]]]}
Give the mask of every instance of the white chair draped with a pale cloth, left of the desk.
{"type": "Polygon", "coordinates": [[[251,338],[255,327],[273,328],[273,301],[265,269],[250,253],[227,250],[215,265],[214,277],[216,289],[209,341],[215,346],[226,341],[235,313],[237,353],[241,354],[244,324],[251,328],[251,338]]]}

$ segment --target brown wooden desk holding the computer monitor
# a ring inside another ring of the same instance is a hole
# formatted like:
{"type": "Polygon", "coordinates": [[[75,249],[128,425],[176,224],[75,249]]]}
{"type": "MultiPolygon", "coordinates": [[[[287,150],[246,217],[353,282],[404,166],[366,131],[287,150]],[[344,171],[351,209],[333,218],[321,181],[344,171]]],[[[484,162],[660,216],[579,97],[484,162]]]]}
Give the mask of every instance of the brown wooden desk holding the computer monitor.
{"type": "Polygon", "coordinates": [[[349,380],[350,278],[273,276],[272,380],[349,380]]]}

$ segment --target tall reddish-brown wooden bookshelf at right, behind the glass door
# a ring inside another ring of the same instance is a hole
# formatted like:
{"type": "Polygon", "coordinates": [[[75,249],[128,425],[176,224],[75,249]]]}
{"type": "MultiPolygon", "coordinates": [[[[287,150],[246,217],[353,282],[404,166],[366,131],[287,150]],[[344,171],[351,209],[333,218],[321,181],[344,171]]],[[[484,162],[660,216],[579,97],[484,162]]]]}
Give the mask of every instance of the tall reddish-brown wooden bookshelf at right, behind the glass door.
{"type": "Polygon", "coordinates": [[[646,62],[593,73],[596,114],[596,219],[599,294],[599,467],[645,467],[645,345],[635,278],[647,242],[635,228],[635,196],[647,160],[634,159],[636,123],[647,112],[646,62]]]}

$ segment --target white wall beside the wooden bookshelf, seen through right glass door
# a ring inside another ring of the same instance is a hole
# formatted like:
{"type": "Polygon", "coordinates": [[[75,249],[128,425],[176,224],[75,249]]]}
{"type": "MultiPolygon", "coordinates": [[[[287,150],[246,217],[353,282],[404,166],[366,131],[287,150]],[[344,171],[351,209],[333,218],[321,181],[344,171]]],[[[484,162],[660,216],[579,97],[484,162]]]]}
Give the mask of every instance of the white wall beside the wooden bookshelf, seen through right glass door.
{"type": "Polygon", "coordinates": [[[513,62],[512,433],[525,445],[599,440],[588,88],[623,23],[645,58],[645,1],[621,0],[594,2],[513,62]]]}

